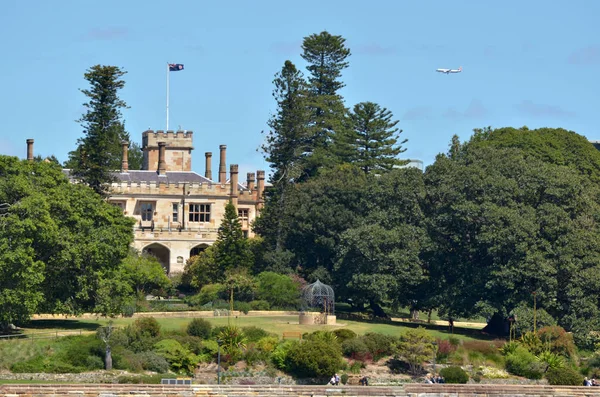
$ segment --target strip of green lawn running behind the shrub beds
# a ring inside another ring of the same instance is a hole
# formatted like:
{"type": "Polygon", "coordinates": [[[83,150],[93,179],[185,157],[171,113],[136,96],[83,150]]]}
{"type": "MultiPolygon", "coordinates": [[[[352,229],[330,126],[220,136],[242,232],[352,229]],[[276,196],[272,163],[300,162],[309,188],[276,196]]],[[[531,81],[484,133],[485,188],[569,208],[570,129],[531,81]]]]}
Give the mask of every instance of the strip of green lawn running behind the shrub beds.
{"type": "MultiPolygon", "coordinates": [[[[356,332],[357,334],[365,334],[367,332],[379,332],[388,335],[399,335],[409,328],[415,328],[419,324],[414,323],[394,323],[394,324],[379,324],[362,321],[348,321],[338,319],[337,325],[299,325],[298,316],[265,316],[265,317],[250,317],[250,316],[239,316],[228,319],[227,317],[207,317],[206,320],[213,323],[215,326],[227,325],[229,321],[232,324],[240,327],[256,326],[263,328],[268,332],[275,333],[279,336],[286,331],[296,332],[313,332],[316,330],[328,329],[340,329],[347,328],[356,332]]],[[[191,317],[168,317],[168,318],[156,318],[164,330],[183,330],[187,324],[192,320],[191,317]]],[[[128,324],[135,321],[132,318],[118,318],[114,322],[117,326],[127,326],[128,324]]],[[[26,333],[41,333],[56,330],[95,330],[99,325],[108,323],[107,319],[44,319],[44,320],[32,320],[29,325],[26,326],[26,333]]],[[[451,334],[448,331],[448,327],[433,325],[433,324],[422,324],[429,332],[440,338],[448,338],[451,334]]],[[[454,327],[454,336],[459,339],[473,340],[473,339],[487,339],[480,331],[470,328],[459,328],[454,327]]]]}

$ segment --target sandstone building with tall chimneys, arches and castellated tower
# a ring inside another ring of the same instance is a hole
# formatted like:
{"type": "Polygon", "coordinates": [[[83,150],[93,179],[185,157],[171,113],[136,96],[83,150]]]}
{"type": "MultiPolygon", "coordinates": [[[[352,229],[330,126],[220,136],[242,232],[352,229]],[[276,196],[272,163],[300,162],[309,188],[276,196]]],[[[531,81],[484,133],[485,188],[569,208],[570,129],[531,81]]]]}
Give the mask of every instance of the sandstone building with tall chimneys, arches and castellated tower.
{"type": "MultiPolygon", "coordinates": [[[[133,246],[155,255],[169,274],[182,272],[191,256],[215,242],[229,201],[244,233],[253,236],[250,223],[264,203],[264,171],[250,172],[240,183],[238,165],[231,164],[228,176],[225,145],[219,147],[217,172],[211,152],[205,153],[204,175],[192,171],[192,131],[144,131],[142,170],[129,169],[128,145],[123,142],[108,201],[136,220],[133,246]]],[[[27,140],[27,157],[33,159],[33,139],[27,140]]]]}

